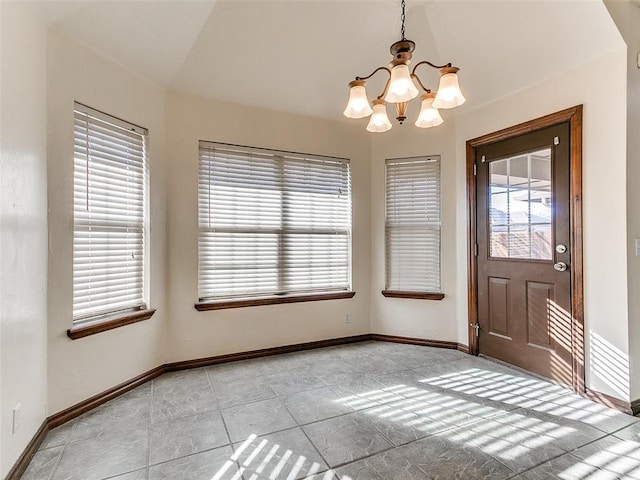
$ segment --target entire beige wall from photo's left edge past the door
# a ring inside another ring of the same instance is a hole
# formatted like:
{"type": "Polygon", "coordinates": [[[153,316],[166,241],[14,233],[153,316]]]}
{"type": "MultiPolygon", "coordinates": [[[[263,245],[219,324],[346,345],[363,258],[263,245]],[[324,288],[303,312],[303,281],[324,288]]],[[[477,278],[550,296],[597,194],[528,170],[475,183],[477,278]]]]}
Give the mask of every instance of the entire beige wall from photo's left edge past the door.
{"type": "Polygon", "coordinates": [[[634,303],[630,325],[627,320],[627,288],[640,277],[636,257],[628,254],[627,235],[640,236],[640,221],[630,208],[627,230],[627,202],[639,199],[625,189],[632,181],[626,178],[627,168],[635,171],[625,150],[626,105],[622,96],[599,94],[626,88],[626,51],[476,110],[462,107],[455,118],[445,112],[447,123],[437,129],[422,131],[409,123],[371,137],[363,122],[313,119],[165,92],[57,33],[47,37],[17,6],[6,5],[11,4],[2,3],[0,10],[1,113],[11,123],[3,121],[1,129],[2,474],[45,415],[161,363],[368,332],[466,344],[465,141],[580,103],[585,105],[587,381],[595,390],[625,400],[640,397],[636,384],[629,397],[626,373],[624,378],[607,375],[612,366],[616,371],[628,367],[630,351],[632,364],[640,357],[634,303]],[[71,341],[65,332],[72,316],[74,100],[149,128],[150,304],[158,312],[149,321],[71,341]],[[351,159],[354,298],[212,312],[193,308],[200,139],[351,159]],[[380,295],[384,159],[415,155],[442,158],[446,296],[440,302],[380,295]],[[346,314],[351,317],[348,325],[346,314]],[[594,342],[606,352],[604,361],[591,359],[594,342]],[[608,363],[611,359],[620,365],[608,363]],[[11,436],[16,403],[22,403],[23,427],[11,436]]]}

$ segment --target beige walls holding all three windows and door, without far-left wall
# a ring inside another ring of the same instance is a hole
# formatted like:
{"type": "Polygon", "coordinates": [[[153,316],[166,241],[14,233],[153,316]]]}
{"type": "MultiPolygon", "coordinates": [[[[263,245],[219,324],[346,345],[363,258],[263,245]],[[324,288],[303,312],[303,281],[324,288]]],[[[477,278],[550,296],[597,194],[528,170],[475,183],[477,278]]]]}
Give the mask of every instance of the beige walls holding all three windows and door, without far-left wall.
{"type": "MultiPolygon", "coordinates": [[[[626,292],[625,242],[624,235],[621,237],[618,232],[624,229],[624,219],[611,215],[612,211],[624,212],[625,206],[624,202],[620,204],[624,189],[612,187],[620,181],[624,184],[624,164],[621,169],[616,168],[616,162],[624,156],[624,149],[620,149],[620,142],[616,141],[620,139],[620,126],[624,125],[624,118],[620,116],[624,102],[612,105],[609,100],[592,95],[595,88],[603,85],[613,89],[624,86],[623,69],[617,68],[624,52],[475,111],[462,110],[458,117],[449,118],[438,129],[422,131],[407,125],[395,127],[386,136],[375,137],[368,136],[363,131],[364,124],[360,123],[275,113],[174,92],[165,96],[157,87],[57,34],[51,35],[49,52],[50,289],[55,292],[50,301],[49,322],[50,412],[163,362],[369,331],[467,344],[464,142],[579,103],[585,104],[587,329],[610,351],[623,357],[628,355],[626,293],[620,293],[620,289],[626,292]],[[92,67],[83,68],[80,74],[76,64],[92,67]],[[64,335],[71,312],[72,166],[63,159],[71,158],[70,106],[74,99],[150,128],[155,185],[152,187],[155,215],[152,227],[156,234],[151,276],[156,293],[151,303],[159,313],[149,322],[72,342],[64,335]],[[163,138],[164,128],[165,144],[154,146],[153,139],[163,138]],[[211,312],[197,312],[193,308],[197,300],[199,139],[351,158],[353,284],[357,292],[353,299],[211,312]],[[158,231],[164,229],[163,186],[159,185],[164,182],[159,180],[164,168],[163,148],[170,179],[167,257],[162,253],[162,240],[157,238],[158,231]],[[432,154],[442,157],[442,284],[446,297],[440,302],[384,298],[380,295],[384,287],[384,159],[432,154]],[[600,161],[603,157],[607,158],[606,163],[600,161]],[[614,238],[603,235],[604,231],[614,238]],[[611,246],[616,242],[620,244],[617,248],[600,253],[605,244],[611,246]],[[166,310],[163,304],[153,300],[162,297],[158,291],[163,291],[165,273],[168,279],[166,310]],[[606,297],[598,293],[601,291],[606,292],[606,297]],[[611,299],[611,302],[600,298],[611,299]],[[344,323],[347,313],[351,317],[349,325],[344,323]],[[163,322],[166,328],[161,330],[163,322]],[[616,328],[605,328],[611,324],[616,328]],[[122,352],[126,352],[126,361],[122,352]],[[112,360],[106,363],[114,365],[113,368],[104,368],[105,356],[112,360]],[[78,367],[80,361],[81,368],[78,367]],[[91,380],[88,374],[100,367],[101,375],[91,380]]],[[[593,338],[588,336],[588,348],[593,338]]],[[[624,394],[620,386],[621,382],[628,382],[628,378],[611,384],[603,376],[606,369],[606,365],[590,363],[588,384],[628,399],[628,393],[624,394]]]]}

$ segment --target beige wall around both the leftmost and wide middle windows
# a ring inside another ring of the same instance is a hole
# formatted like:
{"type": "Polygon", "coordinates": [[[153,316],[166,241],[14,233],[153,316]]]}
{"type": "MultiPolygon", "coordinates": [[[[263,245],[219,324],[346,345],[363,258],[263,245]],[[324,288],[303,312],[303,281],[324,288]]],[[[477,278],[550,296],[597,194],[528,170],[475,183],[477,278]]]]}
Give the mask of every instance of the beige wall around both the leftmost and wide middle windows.
{"type": "Polygon", "coordinates": [[[168,361],[369,331],[370,150],[366,136],[354,139],[351,127],[326,120],[171,93],[165,96],[161,88],[58,33],[49,34],[48,44],[49,414],[168,361]],[[66,330],[72,318],[74,100],[149,129],[150,304],[157,313],[149,321],[72,341],[66,330]],[[353,299],[218,312],[193,308],[201,138],[352,159],[353,299]],[[170,165],[165,165],[165,158],[170,165]],[[171,280],[168,289],[166,278],[171,280]],[[348,325],[344,323],[347,313],[348,325]]]}

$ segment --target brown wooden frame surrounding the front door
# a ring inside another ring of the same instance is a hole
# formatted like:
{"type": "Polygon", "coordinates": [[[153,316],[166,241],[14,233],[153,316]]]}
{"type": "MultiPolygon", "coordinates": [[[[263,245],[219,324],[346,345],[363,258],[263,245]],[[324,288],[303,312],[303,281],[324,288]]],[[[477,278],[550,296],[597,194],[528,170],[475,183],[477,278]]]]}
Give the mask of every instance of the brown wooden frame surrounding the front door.
{"type": "Polygon", "coordinates": [[[478,355],[478,259],[476,257],[476,151],[490,143],[507,140],[562,123],[569,124],[569,223],[571,248],[571,356],[572,385],[577,393],[585,391],[584,366],[584,293],[582,272],[582,105],[520,123],[467,141],[467,219],[468,219],[468,307],[469,353],[478,355]]]}

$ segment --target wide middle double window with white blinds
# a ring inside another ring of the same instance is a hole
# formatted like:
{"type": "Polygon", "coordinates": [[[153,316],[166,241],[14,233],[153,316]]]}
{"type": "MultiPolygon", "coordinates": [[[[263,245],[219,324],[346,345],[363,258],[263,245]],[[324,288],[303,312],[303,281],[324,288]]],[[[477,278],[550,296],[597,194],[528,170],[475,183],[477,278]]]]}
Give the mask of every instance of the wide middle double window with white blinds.
{"type": "Polygon", "coordinates": [[[349,161],[200,142],[201,301],[350,289],[349,161]]]}

